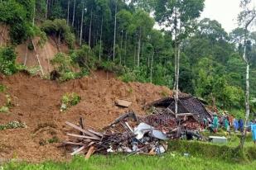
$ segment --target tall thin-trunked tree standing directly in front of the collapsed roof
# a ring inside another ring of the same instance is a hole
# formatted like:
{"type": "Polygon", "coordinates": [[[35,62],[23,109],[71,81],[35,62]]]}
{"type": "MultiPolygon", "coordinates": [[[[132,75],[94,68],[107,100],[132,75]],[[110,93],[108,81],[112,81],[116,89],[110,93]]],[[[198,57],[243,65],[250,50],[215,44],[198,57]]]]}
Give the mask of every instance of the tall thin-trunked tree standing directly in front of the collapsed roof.
{"type": "Polygon", "coordinates": [[[175,113],[177,113],[177,101],[179,92],[179,64],[181,40],[195,30],[194,21],[200,17],[204,9],[205,0],[156,0],[155,16],[161,25],[171,28],[175,39],[175,113]]]}

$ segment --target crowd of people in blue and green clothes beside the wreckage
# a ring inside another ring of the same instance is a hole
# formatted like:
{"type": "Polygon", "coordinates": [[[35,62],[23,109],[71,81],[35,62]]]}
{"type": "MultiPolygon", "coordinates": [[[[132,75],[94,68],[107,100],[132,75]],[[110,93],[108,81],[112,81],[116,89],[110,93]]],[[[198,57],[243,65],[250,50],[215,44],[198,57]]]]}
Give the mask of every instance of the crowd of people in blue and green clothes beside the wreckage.
{"type": "MultiPolygon", "coordinates": [[[[218,132],[220,128],[224,128],[228,133],[234,130],[234,133],[244,132],[244,120],[236,119],[233,116],[218,116],[214,115],[212,121],[204,119],[203,126],[212,133],[218,132]]],[[[252,133],[254,144],[256,144],[256,119],[250,120],[245,127],[247,131],[252,133]]]]}

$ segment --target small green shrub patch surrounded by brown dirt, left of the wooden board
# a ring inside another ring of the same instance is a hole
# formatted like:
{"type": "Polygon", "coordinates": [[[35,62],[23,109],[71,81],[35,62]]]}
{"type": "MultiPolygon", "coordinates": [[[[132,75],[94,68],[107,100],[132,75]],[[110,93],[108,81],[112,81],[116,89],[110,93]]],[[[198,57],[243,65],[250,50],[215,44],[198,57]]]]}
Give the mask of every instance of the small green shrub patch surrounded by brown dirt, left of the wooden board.
{"type": "Polygon", "coordinates": [[[81,97],[75,92],[66,92],[61,98],[60,111],[65,111],[70,106],[80,103],[81,97]]]}

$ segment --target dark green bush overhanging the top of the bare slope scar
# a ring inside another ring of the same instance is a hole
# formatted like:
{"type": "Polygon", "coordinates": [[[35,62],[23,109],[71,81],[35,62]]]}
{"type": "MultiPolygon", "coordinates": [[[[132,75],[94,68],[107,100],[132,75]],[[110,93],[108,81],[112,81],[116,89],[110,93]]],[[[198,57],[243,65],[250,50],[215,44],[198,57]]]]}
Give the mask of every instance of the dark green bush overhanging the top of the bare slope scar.
{"type": "Polygon", "coordinates": [[[45,31],[47,35],[54,36],[56,41],[65,40],[65,43],[70,47],[70,49],[74,49],[75,35],[71,32],[70,26],[66,25],[65,20],[46,20],[42,23],[41,30],[45,31]]]}

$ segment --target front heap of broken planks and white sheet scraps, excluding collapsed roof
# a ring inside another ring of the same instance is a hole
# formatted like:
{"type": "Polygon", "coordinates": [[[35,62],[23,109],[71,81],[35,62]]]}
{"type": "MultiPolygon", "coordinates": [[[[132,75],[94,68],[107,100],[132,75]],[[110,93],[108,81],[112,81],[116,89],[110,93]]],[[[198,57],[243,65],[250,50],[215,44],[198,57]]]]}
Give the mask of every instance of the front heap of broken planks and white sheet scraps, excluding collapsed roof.
{"type": "Polygon", "coordinates": [[[66,124],[80,132],[80,135],[67,134],[72,139],[64,144],[72,150],[71,155],[86,153],[85,158],[89,158],[92,153],[161,154],[167,150],[167,144],[163,142],[168,139],[167,131],[140,122],[133,111],[120,116],[103,132],[85,129],[82,121],[80,126],[66,124]]]}

